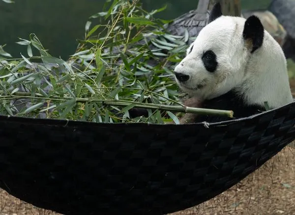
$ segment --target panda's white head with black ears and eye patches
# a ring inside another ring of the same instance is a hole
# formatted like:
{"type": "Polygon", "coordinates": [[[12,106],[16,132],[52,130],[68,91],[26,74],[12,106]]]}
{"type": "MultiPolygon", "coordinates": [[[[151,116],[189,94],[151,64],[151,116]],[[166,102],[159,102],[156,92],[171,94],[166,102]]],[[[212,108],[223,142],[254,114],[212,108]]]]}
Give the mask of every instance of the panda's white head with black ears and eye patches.
{"type": "Polygon", "coordinates": [[[227,93],[243,82],[254,55],[259,58],[257,61],[263,60],[259,52],[264,37],[265,30],[259,18],[223,16],[220,3],[216,3],[209,23],[175,67],[177,84],[200,99],[227,93]]]}

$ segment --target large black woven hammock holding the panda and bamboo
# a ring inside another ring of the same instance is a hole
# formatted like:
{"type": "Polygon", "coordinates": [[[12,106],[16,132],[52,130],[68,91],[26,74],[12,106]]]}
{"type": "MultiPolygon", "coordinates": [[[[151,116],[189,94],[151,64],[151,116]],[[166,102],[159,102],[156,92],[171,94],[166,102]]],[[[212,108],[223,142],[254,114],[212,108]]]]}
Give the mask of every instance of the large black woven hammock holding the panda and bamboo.
{"type": "Polygon", "coordinates": [[[295,139],[295,103],[189,125],[0,116],[0,187],[66,215],[162,215],[232,187],[295,139]]]}

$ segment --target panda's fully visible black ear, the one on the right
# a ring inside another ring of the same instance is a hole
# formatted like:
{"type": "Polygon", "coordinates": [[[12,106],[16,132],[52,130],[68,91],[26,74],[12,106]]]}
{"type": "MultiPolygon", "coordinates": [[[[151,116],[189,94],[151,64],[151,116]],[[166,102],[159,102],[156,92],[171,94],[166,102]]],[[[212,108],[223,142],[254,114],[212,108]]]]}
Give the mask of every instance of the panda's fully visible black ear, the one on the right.
{"type": "Polygon", "coordinates": [[[247,45],[251,46],[251,53],[262,46],[264,27],[257,16],[252,15],[246,20],[243,30],[243,38],[247,45]]]}

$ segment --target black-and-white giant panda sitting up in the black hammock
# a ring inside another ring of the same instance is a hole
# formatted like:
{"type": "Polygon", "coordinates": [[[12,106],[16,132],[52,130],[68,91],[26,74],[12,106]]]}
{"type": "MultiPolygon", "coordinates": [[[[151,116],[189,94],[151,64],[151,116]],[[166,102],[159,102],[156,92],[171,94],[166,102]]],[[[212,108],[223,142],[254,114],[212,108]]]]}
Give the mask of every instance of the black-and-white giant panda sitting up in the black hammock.
{"type": "MultiPolygon", "coordinates": [[[[224,16],[216,3],[205,26],[175,67],[179,87],[202,108],[230,109],[236,118],[293,102],[279,44],[259,18],[224,16]]],[[[216,122],[219,117],[199,116],[216,122]]]]}

